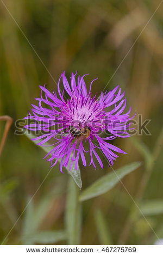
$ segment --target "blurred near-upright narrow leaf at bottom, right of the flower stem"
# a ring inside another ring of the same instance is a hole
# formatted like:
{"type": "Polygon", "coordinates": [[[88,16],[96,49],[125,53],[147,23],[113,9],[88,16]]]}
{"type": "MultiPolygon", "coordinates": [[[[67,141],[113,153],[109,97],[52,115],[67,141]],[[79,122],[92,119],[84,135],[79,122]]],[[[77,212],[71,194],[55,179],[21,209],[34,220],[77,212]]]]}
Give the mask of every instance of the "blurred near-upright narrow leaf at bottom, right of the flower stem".
{"type": "Polygon", "coordinates": [[[100,209],[95,211],[95,222],[101,245],[112,245],[109,228],[107,227],[105,217],[100,209]]]}

